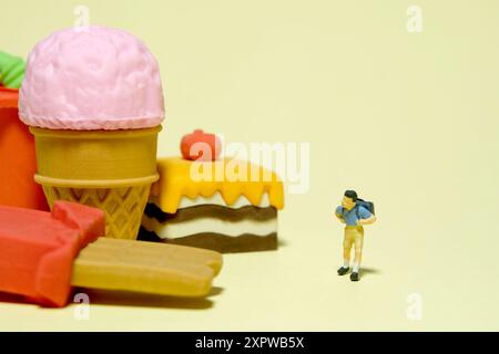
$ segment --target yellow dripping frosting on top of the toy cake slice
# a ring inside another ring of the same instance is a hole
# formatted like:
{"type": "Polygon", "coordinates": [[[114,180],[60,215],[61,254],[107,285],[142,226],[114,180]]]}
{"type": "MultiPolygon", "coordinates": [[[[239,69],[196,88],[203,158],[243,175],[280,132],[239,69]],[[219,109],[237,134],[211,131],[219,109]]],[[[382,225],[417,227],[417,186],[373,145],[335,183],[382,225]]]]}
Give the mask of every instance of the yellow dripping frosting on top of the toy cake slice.
{"type": "Polygon", "coordinates": [[[248,162],[221,159],[216,162],[192,162],[181,157],[157,160],[160,180],[152,191],[154,201],[164,212],[174,214],[182,197],[211,197],[220,192],[227,206],[241,196],[258,206],[267,192],[271,206],[284,207],[284,187],[278,176],[248,162]]]}

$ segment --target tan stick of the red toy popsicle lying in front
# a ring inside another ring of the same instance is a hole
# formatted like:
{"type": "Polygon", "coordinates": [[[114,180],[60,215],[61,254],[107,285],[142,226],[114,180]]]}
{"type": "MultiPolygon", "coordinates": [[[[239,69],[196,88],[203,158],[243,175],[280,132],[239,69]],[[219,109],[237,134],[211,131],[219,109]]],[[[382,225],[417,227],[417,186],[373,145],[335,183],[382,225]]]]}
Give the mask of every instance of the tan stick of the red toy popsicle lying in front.
{"type": "Polygon", "coordinates": [[[222,254],[193,247],[100,238],[74,261],[77,287],[204,296],[222,254]]]}

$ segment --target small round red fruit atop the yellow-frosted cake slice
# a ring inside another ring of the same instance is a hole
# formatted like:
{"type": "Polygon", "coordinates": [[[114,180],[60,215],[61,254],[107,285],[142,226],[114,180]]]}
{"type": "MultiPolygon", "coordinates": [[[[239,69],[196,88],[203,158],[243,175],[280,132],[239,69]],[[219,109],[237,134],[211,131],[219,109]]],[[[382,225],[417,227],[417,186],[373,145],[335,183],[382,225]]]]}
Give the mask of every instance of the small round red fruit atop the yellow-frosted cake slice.
{"type": "Polygon", "coordinates": [[[181,152],[185,159],[211,162],[218,158],[222,144],[215,134],[196,129],[182,138],[181,152]]]}

